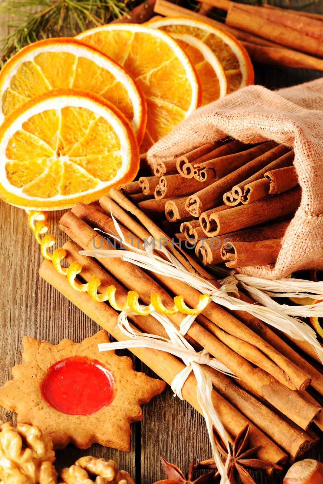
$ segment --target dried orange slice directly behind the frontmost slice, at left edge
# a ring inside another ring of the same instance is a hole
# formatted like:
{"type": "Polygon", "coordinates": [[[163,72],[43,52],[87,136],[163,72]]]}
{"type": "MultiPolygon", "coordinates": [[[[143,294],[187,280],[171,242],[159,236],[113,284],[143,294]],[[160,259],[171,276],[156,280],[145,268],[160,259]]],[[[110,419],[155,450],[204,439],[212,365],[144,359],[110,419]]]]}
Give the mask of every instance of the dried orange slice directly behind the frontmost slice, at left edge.
{"type": "Polygon", "coordinates": [[[76,39],[47,39],[20,50],[0,73],[0,122],[34,96],[52,89],[100,94],[130,121],[141,144],[147,119],[132,77],[104,54],[76,39]]]}

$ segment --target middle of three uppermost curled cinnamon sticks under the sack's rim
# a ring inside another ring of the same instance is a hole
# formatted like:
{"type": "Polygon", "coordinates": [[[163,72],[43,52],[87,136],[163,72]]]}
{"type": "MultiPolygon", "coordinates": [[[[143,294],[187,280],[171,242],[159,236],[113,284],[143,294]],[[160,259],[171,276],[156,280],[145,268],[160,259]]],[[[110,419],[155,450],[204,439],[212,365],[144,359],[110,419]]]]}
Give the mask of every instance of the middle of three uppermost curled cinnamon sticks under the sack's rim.
{"type": "Polygon", "coordinates": [[[248,148],[248,145],[233,139],[231,141],[223,140],[217,141],[206,150],[206,145],[203,145],[200,152],[197,150],[190,151],[177,159],[177,170],[184,178],[193,178],[194,168],[191,165],[195,163],[203,163],[218,156],[224,156],[231,153],[236,153],[248,148]]]}

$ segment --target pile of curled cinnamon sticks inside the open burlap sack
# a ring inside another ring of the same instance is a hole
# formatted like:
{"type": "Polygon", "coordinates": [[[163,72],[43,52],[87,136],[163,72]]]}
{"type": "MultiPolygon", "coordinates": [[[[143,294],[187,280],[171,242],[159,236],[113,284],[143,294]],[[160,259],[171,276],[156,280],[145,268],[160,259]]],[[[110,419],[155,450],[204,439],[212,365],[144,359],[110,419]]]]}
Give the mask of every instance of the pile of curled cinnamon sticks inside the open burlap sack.
{"type": "Polygon", "coordinates": [[[272,141],[224,139],[156,162],[154,176],[120,191],[164,227],[168,222],[165,230],[194,246],[204,266],[274,264],[300,204],[293,156],[272,141]]]}

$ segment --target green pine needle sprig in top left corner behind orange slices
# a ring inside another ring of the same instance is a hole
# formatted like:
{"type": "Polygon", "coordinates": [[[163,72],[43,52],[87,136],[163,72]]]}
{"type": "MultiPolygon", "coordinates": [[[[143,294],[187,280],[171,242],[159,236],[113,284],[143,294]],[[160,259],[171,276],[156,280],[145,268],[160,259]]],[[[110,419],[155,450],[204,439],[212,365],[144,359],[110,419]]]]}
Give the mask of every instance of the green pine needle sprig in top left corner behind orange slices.
{"type": "Polygon", "coordinates": [[[9,15],[10,33],[0,41],[1,67],[25,45],[49,37],[76,35],[122,15],[135,0],[6,0],[0,14],[9,15]]]}

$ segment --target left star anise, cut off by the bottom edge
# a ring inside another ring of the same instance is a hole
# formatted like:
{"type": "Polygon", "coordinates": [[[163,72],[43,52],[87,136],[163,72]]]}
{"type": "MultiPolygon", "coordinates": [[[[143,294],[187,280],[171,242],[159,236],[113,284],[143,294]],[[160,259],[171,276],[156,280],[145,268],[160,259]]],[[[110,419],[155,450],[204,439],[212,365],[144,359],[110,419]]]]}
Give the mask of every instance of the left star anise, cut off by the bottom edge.
{"type": "Polygon", "coordinates": [[[215,484],[218,482],[219,473],[216,469],[211,469],[210,472],[201,475],[195,481],[193,481],[193,474],[196,466],[194,466],[194,459],[191,460],[187,471],[187,478],[183,472],[174,464],[169,464],[164,457],[160,457],[163,469],[167,475],[167,479],[157,481],[154,484],[215,484]]]}

